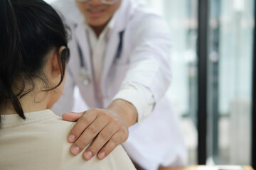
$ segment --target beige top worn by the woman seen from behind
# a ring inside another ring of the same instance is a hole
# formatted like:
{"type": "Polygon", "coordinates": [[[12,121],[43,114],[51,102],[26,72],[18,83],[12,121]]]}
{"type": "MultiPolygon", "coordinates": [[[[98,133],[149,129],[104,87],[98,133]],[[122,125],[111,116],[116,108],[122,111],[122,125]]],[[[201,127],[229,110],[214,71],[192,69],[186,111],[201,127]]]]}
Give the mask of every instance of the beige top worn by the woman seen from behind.
{"type": "Polygon", "coordinates": [[[105,159],[90,161],[70,154],[68,132],[75,123],[63,121],[52,111],[1,115],[0,169],[135,169],[122,146],[105,159]]]}

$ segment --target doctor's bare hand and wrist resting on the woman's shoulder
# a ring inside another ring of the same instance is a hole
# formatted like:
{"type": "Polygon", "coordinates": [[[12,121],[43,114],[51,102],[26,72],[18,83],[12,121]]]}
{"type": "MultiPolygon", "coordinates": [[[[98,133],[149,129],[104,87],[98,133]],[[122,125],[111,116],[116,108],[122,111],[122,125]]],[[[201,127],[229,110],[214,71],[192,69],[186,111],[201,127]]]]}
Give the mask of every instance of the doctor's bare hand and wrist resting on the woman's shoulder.
{"type": "Polygon", "coordinates": [[[137,122],[137,110],[131,103],[117,99],[106,109],[65,113],[63,120],[77,121],[68,135],[68,142],[74,142],[72,154],[79,154],[92,142],[82,157],[89,160],[97,154],[99,159],[104,159],[117,145],[127,140],[129,126],[137,122]]]}

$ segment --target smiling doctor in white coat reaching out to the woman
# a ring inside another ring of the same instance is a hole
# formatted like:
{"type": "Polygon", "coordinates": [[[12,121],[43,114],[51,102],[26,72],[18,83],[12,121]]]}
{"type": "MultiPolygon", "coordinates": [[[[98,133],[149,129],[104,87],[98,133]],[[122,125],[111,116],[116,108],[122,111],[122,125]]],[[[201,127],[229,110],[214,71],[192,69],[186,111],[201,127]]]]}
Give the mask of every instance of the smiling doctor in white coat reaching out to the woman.
{"type": "Polygon", "coordinates": [[[166,90],[171,79],[169,28],[140,0],[75,0],[53,4],[70,19],[72,40],[63,98],[54,111],[77,121],[68,141],[73,154],[85,150],[86,160],[100,159],[123,143],[129,157],[143,169],[186,164],[177,115],[166,90]],[[73,91],[91,108],[73,108],[73,91]],[[129,131],[128,131],[129,128],[129,131]],[[126,141],[126,142],[125,142],[126,141]]]}

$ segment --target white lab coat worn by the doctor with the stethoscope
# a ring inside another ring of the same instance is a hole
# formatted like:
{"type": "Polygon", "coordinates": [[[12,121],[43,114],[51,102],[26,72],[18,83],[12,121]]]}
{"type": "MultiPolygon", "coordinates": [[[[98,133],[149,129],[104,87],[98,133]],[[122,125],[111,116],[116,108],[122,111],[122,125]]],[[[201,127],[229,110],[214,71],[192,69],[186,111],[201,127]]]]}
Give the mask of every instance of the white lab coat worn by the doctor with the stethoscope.
{"type": "MultiPolygon", "coordinates": [[[[72,2],[72,1],[71,1],[72,2]]],[[[60,0],[58,3],[66,3],[60,0]]],[[[154,96],[154,111],[142,123],[129,128],[129,138],[123,147],[134,162],[144,169],[158,166],[186,165],[186,147],[178,123],[165,93],[171,79],[169,55],[171,42],[169,28],[142,1],[122,0],[117,20],[110,32],[102,74],[102,98],[107,107],[122,84],[135,82],[148,88],[154,96]],[[124,31],[122,53],[116,57],[119,33],[124,31]]],[[[60,9],[61,11],[61,9],[60,9]]],[[[69,10],[70,11],[70,10],[69,10]]],[[[72,11],[72,10],[71,10],[72,11]]],[[[65,13],[65,11],[64,11],[65,13]]],[[[69,16],[68,16],[69,17],[69,16]]],[[[72,24],[70,62],[63,97],[55,106],[58,113],[67,113],[73,107],[73,89],[78,86],[89,107],[98,107],[92,75],[90,47],[82,23],[72,24]],[[90,83],[80,81],[78,43],[90,83]]]]}

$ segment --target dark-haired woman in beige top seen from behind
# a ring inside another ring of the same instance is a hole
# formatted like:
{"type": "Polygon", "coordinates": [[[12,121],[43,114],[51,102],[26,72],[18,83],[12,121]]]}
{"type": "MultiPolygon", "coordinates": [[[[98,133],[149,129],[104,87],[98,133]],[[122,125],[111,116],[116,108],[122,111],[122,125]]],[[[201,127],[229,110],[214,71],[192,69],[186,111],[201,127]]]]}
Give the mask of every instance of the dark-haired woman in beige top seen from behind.
{"type": "Polygon", "coordinates": [[[49,110],[69,58],[58,13],[43,0],[1,0],[0,22],[0,169],[134,169],[121,146],[103,160],[70,154],[75,123],[49,110]]]}

